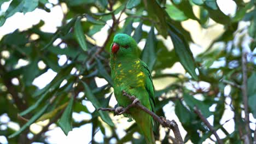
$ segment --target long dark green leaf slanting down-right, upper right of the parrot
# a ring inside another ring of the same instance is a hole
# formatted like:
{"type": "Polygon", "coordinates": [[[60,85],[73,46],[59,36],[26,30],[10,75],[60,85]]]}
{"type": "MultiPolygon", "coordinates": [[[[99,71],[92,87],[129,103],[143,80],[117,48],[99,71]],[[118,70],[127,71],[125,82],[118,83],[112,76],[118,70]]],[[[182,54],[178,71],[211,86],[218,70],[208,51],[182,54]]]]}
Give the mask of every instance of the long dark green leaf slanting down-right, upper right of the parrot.
{"type": "Polygon", "coordinates": [[[195,73],[195,61],[187,41],[183,38],[183,35],[178,31],[178,29],[169,25],[171,30],[168,30],[171,36],[172,43],[174,45],[175,52],[180,59],[181,64],[188,71],[188,73],[193,77],[193,79],[198,80],[198,76],[195,73]]]}

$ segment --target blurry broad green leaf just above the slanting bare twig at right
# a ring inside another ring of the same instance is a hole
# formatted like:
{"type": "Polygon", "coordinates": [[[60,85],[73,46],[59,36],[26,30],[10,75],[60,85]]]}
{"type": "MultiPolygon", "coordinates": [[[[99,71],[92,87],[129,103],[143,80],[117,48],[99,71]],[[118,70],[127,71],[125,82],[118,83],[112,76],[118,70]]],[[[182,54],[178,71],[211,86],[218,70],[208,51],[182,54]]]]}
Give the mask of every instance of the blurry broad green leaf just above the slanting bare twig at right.
{"type": "Polygon", "coordinates": [[[187,105],[189,105],[190,109],[193,110],[196,106],[199,110],[201,110],[202,115],[207,117],[210,117],[212,115],[212,112],[209,111],[208,105],[203,103],[203,101],[195,99],[192,95],[189,95],[187,93],[183,94],[184,101],[187,105]]]}

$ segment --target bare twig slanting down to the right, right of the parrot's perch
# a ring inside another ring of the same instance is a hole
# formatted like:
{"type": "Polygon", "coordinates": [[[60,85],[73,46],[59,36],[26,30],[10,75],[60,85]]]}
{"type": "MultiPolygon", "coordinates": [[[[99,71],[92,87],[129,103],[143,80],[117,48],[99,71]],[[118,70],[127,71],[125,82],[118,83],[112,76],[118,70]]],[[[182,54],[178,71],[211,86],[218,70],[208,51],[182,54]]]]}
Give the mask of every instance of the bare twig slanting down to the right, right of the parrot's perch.
{"type": "Polygon", "coordinates": [[[207,126],[207,128],[212,132],[212,134],[216,137],[217,142],[219,144],[223,144],[223,141],[219,138],[216,130],[212,127],[212,125],[207,121],[207,119],[202,115],[201,111],[197,109],[197,107],[194,107],[194,112],[200,117],[203,123],[207,126]]]}

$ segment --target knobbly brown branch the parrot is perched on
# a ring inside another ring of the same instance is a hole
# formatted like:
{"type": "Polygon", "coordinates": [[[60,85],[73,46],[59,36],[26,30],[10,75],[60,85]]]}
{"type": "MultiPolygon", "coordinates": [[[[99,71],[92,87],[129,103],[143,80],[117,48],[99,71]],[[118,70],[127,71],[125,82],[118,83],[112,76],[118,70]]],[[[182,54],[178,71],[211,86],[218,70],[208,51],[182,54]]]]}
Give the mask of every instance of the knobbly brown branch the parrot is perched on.
{"type": "MultiPolygon", "coordinates": [[[[127,94],[125,91],[123,91],[123,95],[128,97],[131,101],[135,101],[136,100],[136,97],[127,94]]],[[[179,144],[183,144],[184,143],[183,140],[182,140],[181,133],[179,132],[178,124],[174,120],[169,121],[165,117],[159,117],[154,112],[152,112],[149,109],[147,109],[147,107],[145,107],[141,103],[139,103],[139,101],[137,101],[136,103],[132,103],[132,104],[128,105],[127,107],[121,109],[117,114],[120,115],[122,113],[128,113],[129,112],[128,110],[131,107],[137,107],[138,109],[141,109],[144,112],[147,112],[150,116],[153,117],[153,119],[155,121],[159,122],[163,127],[172,129],[172,131],[174,133],[174,136],[175,136],[175,139],[176,139],[176,141],[179,144]]],[[[100,108],[98,110],[117,112],[117,109],[113,109],[113,108],[100,108]]]]}

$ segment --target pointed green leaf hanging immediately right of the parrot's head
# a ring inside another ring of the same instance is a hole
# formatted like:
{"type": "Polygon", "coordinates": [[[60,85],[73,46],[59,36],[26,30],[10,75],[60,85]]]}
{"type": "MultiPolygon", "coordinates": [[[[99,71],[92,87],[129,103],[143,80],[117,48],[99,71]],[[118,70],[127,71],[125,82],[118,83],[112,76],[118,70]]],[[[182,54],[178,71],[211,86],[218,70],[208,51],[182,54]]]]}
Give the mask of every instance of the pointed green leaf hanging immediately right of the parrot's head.
{"type": "Polygon", "coordinates": [[[150,71],[153,70],[156,61],[156,44],[157,41],[154,34],[154,27],[152,26],[148,34],[146,45],[141,53],[141,59],[148,65],[150,71]]]}

